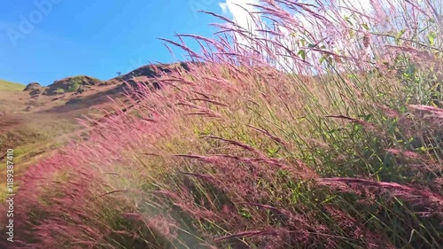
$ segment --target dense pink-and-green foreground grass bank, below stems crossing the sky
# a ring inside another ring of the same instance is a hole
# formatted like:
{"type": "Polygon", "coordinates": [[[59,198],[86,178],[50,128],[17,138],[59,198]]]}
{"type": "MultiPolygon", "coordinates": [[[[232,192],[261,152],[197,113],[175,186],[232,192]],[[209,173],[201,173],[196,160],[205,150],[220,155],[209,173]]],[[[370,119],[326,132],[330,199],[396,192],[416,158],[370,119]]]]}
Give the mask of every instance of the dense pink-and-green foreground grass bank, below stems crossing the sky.
{"type": "MultiPolygon", "coordinates": [[[[367,35],[346,28],[349,46],[367,35]]],[[[443,110],[410,105],[431,105],[436,72],[398,59],[401,74],[208,64],[175,75],[134,116],[33,166],[17,237],[33,248],[441,248],[443,110]]]]}

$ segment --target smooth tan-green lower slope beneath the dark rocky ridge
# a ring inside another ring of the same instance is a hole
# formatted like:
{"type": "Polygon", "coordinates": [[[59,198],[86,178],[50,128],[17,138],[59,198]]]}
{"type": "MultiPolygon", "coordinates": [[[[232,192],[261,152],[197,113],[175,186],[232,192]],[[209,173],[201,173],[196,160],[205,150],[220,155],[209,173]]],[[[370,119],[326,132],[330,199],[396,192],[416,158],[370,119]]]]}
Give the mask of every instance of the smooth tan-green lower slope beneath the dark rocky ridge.
{"type": "MultiPolygon", "coordinates": [[[[3,82],[2,82],[3,83],[3,82]]],[[[19,84],[4,83],[0,86],[13,86],[7,90],[0,90],[0,177],[5,177],[6,159],[1,159],[8,149],[14,150],[14,175],[19,177],[27,171],[27,167],[38,160],[45,158],[55,149],[62,147],[76,137],[77,132],[83,129],[74,118],[82,114],[92,118],[103,115],[95,109],[103,101],[95,101],[94,93],[106,92],[112,87],[96,88],[96,91],[79,96],[66,95],[58,100],[57,97],[40,96],[30,97],[27,92],[19,88],[19,84]],[[16,89],[12,91],[12,89],[16,89]],[[68,104],[70,99],[78,99],[86,107],[68,104]],[[82,100],[81,100],[82,99],[82,100]],[[30,111],[25,112],[31,105],[30,111]],[[60,108],[63,107],[63,108],[60,108]]],[[[104,98],[104,97],[101,97],[104,98]]],[[[19,183],[19,181],[15,181],[19,183]]],[[[4,199],[5,182],[0,183],[0,201],[4,199]]]]}

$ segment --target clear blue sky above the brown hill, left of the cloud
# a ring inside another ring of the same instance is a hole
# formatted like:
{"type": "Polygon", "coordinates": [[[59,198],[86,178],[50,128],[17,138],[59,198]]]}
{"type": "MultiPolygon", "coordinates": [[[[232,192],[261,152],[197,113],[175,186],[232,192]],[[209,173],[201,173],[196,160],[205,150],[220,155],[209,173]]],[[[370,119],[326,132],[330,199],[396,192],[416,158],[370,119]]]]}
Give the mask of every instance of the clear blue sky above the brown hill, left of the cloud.
{"type": "MultiPolygon", "coordinates": [[[[221,13],[220,2],[2,1],[0,79],[48,85],[86,74],[107,80],[149,61],[171,62],[174,59],[157,38],[175,39],[175,32],[212,36],[214,27],[208,24],[221,21],[195,9],[221,13]],[[36,3],[46,3],[45,8],[36,3]],[[27,27],[27,21],[33,27],[27,27]]],[[[183,58],[182,51],[175,52],[183,58]]]]}

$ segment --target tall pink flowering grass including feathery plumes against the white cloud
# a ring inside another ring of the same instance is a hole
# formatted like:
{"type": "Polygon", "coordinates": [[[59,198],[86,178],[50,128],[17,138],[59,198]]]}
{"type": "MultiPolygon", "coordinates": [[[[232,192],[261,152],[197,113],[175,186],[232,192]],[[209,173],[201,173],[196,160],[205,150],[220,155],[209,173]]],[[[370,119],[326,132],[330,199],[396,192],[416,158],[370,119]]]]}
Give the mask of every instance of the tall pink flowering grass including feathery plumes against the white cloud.
{"type": "Polygon", "coordinates": [[[257,32],[209,13],[217,38],[165,39],[193,63],[31,167],[14,245],[439,248],[441,4],[370,5],[262,1],[257,32]]]}

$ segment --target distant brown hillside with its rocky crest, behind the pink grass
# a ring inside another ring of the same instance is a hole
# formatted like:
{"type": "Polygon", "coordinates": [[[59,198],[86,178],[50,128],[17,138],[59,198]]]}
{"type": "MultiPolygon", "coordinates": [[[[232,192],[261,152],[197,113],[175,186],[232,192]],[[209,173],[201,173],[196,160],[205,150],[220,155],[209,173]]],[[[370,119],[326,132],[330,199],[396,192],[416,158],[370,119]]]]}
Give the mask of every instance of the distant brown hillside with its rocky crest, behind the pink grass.
{"type": "Polygon", "coordinates": [[[110,98],[119,100],[119,107],[127,107],[129,99],[123,91],[130,92],[136,82],[155,82],[160,72],[172,70],[178,67],[147,65],[107,81],[78,75],[45,87],[38,82],[25,87],[2,81],[0,86],[6,90],[0,90],[0,163],[4,162],[6,150],[14,148],[17,172],[21,174],[37,156],[48,154],[86,131],[75,119],[101,119],[104,110],[113,112],[117,106],[110,98]]]}

